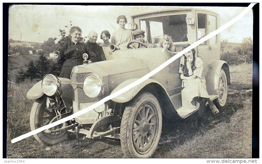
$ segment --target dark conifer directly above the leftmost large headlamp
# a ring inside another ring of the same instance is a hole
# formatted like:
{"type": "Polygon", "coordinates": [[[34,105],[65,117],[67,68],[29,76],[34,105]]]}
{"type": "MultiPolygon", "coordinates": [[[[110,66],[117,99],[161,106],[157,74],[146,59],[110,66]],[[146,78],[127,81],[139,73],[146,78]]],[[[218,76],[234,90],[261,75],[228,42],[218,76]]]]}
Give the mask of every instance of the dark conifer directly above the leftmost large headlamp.
{"type": "Polygon", "coordinates": [[[43,76],[46,75],[49,72],[49,61],[47,60],[47,57],[44,56],[42,53],[39,56],[39,59],[36,61],[37,63],[37,72],[39,73],[39,77],[43,79],[43,76]]]}

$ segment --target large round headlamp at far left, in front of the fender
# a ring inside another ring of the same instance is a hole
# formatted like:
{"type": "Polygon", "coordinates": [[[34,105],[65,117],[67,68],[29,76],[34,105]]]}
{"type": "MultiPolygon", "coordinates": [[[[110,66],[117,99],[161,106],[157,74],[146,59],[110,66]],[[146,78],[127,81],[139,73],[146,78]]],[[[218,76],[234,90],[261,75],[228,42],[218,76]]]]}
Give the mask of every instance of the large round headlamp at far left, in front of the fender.
{"type": "Polygon", "coordinates": [[[42,80],[42,89],[47,96],[53,96],[59,89],[59,80],[52,74],[47,74],[42,80]]]}

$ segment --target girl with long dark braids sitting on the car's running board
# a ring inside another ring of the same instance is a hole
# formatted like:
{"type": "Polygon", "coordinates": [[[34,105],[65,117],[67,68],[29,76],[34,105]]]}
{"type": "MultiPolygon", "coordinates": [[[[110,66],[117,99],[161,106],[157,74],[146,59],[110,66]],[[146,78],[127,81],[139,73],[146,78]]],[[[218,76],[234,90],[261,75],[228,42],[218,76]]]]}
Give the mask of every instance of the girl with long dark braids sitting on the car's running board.
{"type": "MultiPolygon", "coordinates": [[[[182,50],[188,46],[190,46],[190,44],[184,45],[182,50]]],[[[219,110],[213,101],[210,100],[206,90],[206,81],[202,76],[203,61],[196,57],[195,54],[195,49],[192,49],[181,57],[178,72],[181,73],[180,78],[182,79],[182,87],[184,87],[183,92],[181,92],[181,94],[185,94],[183,98],[186,98],[189,102],[191,102],[194,97],[199,98],[199,119],[202,119],[206,102],[208,102],[213,114],[217,114],[219,110]]]]}

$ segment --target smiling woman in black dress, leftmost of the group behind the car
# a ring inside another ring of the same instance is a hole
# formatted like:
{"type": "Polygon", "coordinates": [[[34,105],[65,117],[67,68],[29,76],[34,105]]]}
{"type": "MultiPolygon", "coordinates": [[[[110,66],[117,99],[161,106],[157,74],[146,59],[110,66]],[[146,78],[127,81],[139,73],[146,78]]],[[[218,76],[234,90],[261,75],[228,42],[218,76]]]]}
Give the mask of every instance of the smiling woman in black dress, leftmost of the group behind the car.
{"type": "Polygon", "coordinates": [[[83,53],[88,54],[87,60],[96,62],[95,53],[91,52],[87,45],[79,42],[82,33],[81,28],[74,26],[70,29],[69,33],[72,39],[63,44],[57,58],[57,63],[62,66],[59,77],[68,79],[70,79],[72,68],[83,64],[83,53]]]}

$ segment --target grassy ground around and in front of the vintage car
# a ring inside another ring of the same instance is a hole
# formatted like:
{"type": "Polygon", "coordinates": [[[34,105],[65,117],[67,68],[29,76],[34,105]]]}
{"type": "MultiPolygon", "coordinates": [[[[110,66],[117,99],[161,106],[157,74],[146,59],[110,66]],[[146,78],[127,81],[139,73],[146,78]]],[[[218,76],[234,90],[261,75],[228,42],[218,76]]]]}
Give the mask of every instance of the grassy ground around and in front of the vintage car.
{"type": "MultiPolygon", "coordinates": [[[[196,125],[197,114],[164,121],[152,158],[252,157],[252,65],[230,67],[230,76],[227,103],[219,114],[213,115],[207,108],[201,126],[196,125]]],[[[34,101],[26,99],[26,93],[33,85],[8,84],[7,157],[124,158],[117,139],[80,140],[73,149],[73,134],[69,140],[53,146],[41,145],[32,136],[12,144],[11,139],[30,131],[29,115],[34,101]]]]}

